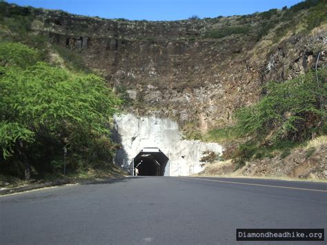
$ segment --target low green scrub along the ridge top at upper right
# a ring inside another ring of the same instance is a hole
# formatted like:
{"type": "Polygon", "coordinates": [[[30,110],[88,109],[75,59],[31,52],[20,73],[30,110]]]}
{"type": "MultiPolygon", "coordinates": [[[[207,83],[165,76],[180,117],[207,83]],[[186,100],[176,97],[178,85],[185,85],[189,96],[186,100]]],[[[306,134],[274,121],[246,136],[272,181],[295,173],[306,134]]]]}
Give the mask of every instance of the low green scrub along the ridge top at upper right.
{"type": "Polygon", "coordinates": [[[272,33],[278,41],[287,32],[295,32],[299,26],[302,32],[308,32],[327,21],[326,1],[306,0],[282,10],[273,8],[266,12],[242,15],[239,19],[214,27],[204,34],[204,38],[220,39],[230,35],[241,35],[243,38],[260,40],[272,33]],[[301,12],[307,11],[305,18],[301,12]],[[259,24],[258,24],[259,23],[259,24]]]}

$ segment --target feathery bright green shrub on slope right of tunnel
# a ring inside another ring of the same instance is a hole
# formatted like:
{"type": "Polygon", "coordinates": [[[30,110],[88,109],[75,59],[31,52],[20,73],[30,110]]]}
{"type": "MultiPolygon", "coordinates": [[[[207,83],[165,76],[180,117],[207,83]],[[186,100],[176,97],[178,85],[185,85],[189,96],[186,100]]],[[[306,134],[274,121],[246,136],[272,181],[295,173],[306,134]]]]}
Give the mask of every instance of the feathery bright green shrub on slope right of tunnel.
{"type": "Polygon", "coordinates": [[[265,89],[266,96],[255,106],[235,113],[237,130],[244,137],[262,139],[273,132],[273,139],[305,140],[312,128],[306,125],[317,126],[326,116],[326,111],[317,104],[319,97],[326,98],[326,86],[317,87],[315,72],[281,84],[270,82],[265,89]]]}

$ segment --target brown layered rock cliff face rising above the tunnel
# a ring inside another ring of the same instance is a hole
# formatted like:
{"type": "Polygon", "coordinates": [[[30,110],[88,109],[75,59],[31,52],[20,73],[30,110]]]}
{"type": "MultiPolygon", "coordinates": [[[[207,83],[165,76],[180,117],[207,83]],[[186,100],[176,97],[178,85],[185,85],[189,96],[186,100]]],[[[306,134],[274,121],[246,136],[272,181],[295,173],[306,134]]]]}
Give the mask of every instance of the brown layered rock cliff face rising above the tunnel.
{"type": "Polygon", "coordinates": [[[32,30],[81,55],[130,98],[130,112],[200,130],[232,123],[266,81],[313,67],[327,36],[326,24],[303,32],[307,9],[157,22],[30,11],[32,30]]]}

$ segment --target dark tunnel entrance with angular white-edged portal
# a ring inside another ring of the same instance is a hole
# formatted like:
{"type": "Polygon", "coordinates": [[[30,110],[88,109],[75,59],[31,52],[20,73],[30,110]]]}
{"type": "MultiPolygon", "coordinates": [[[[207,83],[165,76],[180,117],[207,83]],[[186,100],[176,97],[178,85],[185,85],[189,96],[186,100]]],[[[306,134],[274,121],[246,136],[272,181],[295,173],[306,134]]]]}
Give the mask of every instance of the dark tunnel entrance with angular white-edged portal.
{"type": "Polygon", "coordinates": [[[140,176],[169,175],[169,158],[159,148],[143,148],[134,158],[134,167],[140,176]]]}

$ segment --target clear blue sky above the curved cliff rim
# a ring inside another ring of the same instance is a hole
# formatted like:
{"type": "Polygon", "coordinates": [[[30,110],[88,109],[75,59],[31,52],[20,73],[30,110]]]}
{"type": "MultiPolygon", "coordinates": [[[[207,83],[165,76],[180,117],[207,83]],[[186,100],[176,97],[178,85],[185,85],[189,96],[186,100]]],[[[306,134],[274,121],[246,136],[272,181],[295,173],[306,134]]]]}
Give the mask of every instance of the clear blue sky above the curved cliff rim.
{"type": "Polygon", "coordinates": [[[64,10],[108,19],[179,20],[251,14],[293,6],[301,0],[6,0],[20,6],[64,10]]]}

